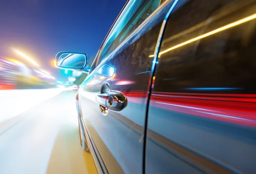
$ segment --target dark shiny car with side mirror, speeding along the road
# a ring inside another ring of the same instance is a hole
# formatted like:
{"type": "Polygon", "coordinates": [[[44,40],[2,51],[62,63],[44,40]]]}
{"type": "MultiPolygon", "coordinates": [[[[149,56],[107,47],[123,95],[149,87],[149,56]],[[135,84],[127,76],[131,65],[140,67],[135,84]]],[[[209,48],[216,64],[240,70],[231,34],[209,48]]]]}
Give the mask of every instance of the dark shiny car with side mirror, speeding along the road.
{"type": "Polygon", "coordinates": [[[256,173],[256,0],[129,0],[76,93],[98,173],[256,173]]]}

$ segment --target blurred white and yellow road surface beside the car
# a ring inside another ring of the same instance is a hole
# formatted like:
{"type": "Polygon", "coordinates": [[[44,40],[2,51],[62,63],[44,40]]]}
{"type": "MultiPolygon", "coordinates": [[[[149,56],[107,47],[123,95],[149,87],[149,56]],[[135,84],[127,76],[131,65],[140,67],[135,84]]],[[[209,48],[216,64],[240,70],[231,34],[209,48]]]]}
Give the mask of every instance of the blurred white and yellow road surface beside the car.
{"type": "Polygon", "coordinates": [[[90,153],[80,147],[76,92],[48,89],[9,94],[12,100],[0,93],[1,109],[8,101],[8,108],[0,113],[0,174],[96,173],[90,153]],[[21,109],[13,112],[17,108],[21,109]],[[22,113],[15,115],[18,112],[22,113]]]}

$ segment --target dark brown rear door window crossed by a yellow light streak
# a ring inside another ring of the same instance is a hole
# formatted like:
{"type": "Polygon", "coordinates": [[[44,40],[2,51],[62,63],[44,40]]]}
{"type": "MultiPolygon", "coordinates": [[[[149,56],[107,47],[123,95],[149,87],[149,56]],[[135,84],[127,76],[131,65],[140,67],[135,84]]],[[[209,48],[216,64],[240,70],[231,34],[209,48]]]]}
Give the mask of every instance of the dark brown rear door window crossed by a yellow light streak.
{"type": "Polygon", "coordinates": [[[177,6],[166,24],[154,91],[255,89],[255,9],[253,0],[186,0],[177,6]]]}

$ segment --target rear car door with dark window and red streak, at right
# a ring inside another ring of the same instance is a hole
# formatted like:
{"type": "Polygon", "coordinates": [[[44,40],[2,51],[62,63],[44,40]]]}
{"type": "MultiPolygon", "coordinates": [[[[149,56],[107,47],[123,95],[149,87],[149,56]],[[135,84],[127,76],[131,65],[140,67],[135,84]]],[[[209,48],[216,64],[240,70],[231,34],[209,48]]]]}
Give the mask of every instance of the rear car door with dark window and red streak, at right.
{"type": "Polygon", "coordinates": [[[256,173],[256,1],[179,0],[148,111],[147,174],[256,173]]]}

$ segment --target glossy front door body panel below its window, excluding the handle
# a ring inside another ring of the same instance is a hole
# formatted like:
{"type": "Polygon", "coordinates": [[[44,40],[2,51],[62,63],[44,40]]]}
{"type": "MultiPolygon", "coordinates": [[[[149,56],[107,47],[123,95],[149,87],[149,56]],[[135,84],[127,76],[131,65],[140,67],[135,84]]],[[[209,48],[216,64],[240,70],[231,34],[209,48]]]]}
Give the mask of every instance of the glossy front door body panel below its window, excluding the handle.
{"type": "Polygon", "coordinates": [[[143,172],[143,135],[153,59],[150,55],[154,54],[162,21],[170,6],[171,3],[165,3],[81,84],[82,117],[111,174],[143,172]],[[111,91],[127,98],[127,106],[121,111],[110,109],[107,115],[102,114],[96,95],[105,83],[111,91]]]}

